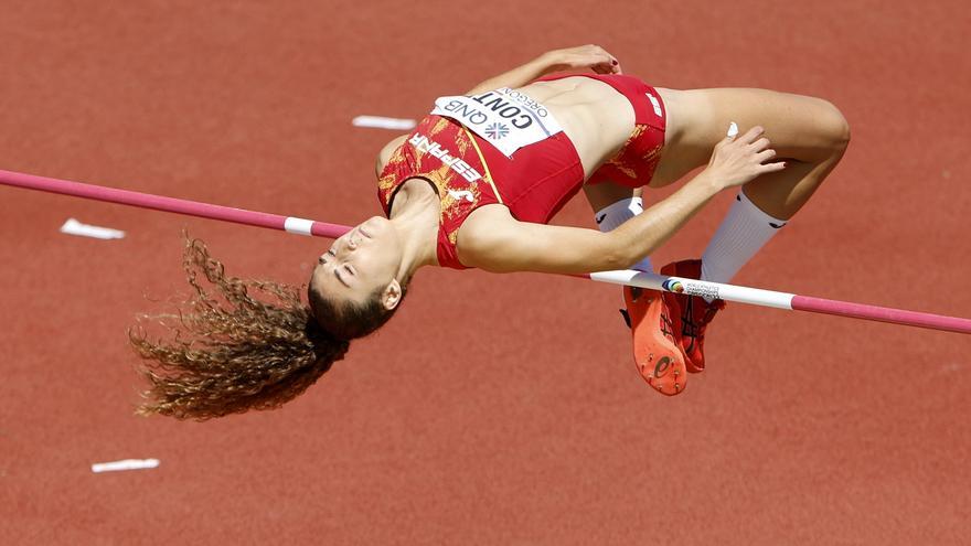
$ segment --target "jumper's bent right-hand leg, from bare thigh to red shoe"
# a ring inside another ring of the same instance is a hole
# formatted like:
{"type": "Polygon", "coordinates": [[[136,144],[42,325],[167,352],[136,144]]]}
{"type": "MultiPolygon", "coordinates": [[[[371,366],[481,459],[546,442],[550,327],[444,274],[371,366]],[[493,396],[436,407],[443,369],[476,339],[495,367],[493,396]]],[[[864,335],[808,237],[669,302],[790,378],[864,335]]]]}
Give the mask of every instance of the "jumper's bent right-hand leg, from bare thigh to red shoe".
{"type": "MultiPolygon", "coordinates": [[[[657,185],[703,165],[732,121],[743,131],[765,127],[772,149],[788,158],[787,169],[761,176],[739,192],[702,260],[661,269],[666,275],[727,282],[805,204],[839,162],[850,138],[846,121],[825,100],[760,89],[670,92],[670,97],[665,93],[662,97],[671,98],[675,146],[662,156],[657,185]]],[[[724,302],[679,297],[679,303],[685,364],[690,372],[700,372],[705,366],[705,330],[724,302]]]]}

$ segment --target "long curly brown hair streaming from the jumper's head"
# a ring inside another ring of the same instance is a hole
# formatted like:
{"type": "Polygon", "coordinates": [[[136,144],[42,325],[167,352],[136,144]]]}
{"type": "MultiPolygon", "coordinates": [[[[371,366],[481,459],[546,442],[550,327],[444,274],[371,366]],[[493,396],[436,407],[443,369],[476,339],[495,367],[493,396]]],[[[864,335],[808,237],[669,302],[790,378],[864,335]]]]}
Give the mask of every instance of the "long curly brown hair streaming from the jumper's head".
{"type": "Polygon", "coordinates": [[[139,414],[205,420],[277,408],[346,353],[350,341],[323,330],[297,288],[230,277],[201,240],[188,237],[183,267],[194,292],[185,309],[141,317],[128,331],[151,384],[139,414]],[[150,322],[172,335],[149,339],[150,322]]]}

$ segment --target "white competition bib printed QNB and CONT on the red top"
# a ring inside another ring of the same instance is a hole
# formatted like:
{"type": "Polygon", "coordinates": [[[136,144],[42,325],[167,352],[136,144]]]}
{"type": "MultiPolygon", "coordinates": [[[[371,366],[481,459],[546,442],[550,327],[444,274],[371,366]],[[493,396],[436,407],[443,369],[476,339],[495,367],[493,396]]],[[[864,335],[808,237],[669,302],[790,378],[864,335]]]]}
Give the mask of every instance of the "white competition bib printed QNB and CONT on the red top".
{"type": "Polygon", "coordinates": [[[543,105],[509,87],[471,97],[439,97],[431,114],[462,124],[506,158],[563,130],[543,105]]]}

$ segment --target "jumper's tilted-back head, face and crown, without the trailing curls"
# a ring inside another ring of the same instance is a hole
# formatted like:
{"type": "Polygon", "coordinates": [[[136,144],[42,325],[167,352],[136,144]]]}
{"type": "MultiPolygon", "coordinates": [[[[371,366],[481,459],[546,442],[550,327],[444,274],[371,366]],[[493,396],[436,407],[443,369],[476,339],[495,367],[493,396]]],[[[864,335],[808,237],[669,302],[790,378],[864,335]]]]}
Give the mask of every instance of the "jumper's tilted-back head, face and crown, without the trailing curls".
{"type": "Polygon", "coordinates": [[[310,274],[310,308],[320,326],[342,340],[381,328],[407,290],[399,276],[403,246],[391,222],[375,216],[334,239],[310,274]]]}

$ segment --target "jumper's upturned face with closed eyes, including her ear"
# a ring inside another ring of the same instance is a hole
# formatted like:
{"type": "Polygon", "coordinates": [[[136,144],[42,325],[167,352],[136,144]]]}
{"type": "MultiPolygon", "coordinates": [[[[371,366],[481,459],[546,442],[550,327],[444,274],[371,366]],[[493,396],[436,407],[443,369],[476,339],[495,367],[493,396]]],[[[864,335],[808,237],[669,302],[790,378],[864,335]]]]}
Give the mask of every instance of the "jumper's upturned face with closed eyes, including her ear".
{"type": "MultiPolygon", "coordinates": [[[[402,242],[391,222],[374,216],[334,239],[310,275],[310,289],[331,301],[363,304],[381,289],[396,286],[402,242]]],[[[393,308],[395,299],[382,303],[393,308]]]]}

